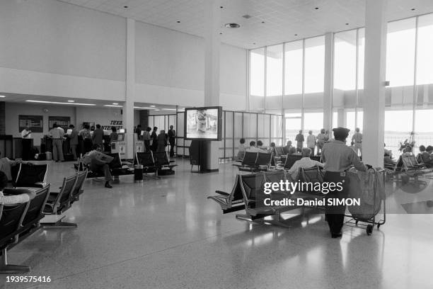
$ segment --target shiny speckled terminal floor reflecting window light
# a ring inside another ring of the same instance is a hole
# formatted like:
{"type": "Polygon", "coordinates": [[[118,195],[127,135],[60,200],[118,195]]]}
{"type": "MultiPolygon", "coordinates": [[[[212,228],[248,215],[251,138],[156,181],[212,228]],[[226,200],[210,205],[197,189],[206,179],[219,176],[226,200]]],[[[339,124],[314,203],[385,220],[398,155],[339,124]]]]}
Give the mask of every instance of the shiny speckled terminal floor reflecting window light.
{"type": "MultiPolygon", "coordinates": [[[[112,189],[87,181],[67,212],[78,228],[41,229],[9,251],[9,263],[52,282],[0,276],[0,288],[433,288],[433,215],[401,206],[433,199],[429,179],[419,192],[389,185],[387,208],[398,214],[373,235],[345,227],[331,239],[322,215],[295,218],[289,229],[222,215],[207,196],[230,191],[236,169],[191,174],[177,162],[176,174],[158,181],[124,176],[112,189]]],[[[52,163],[53,188],[71,166],[52,163]]]]}

